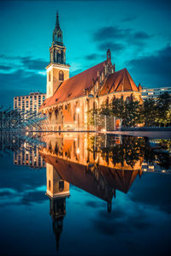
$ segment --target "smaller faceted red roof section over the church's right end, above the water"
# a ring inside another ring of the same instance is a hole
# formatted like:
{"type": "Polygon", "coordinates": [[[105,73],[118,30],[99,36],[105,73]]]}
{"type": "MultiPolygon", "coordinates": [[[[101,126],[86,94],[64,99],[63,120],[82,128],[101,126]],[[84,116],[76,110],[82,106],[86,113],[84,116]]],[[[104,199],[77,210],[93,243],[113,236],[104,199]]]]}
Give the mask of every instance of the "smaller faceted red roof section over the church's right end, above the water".
{"type": "Polygon", "coordinates": [[[100,96],[111,92],[127,91],[139,92],[139,89],[135,85],[131,75],[128,73],[127,68],[123,68],[114,74],[109,74],[108,79],[104,83],[98,95],[100,96]]]}

